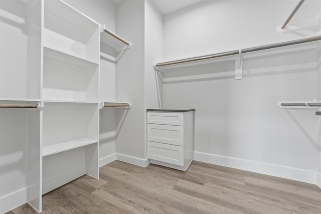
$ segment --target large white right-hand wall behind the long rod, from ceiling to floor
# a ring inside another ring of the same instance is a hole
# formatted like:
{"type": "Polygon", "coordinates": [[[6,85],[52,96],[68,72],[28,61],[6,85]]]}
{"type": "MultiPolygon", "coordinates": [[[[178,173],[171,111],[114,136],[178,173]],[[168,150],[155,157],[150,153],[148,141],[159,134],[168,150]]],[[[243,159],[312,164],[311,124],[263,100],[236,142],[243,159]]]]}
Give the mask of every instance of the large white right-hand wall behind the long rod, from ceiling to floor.
{"type": "MultiPolygon", "coordinates": [[[[277,32],[296,4],[205,1],[167,15],[163,59],[308,36],[277,32]]],[[[304,3],[293,22],[319,16],[320,6],[320,1],[304,3]]],[[[315,52],[246,59],[242,80],[234,79],[234,70],[234,61],[228,61],[172,69],[164,75],[177,80],[164,84],[164,108],[196,109],[195,159],[315,183],[317,117],[313,110],[276,105],[317,98],[315,52]],[[190,80],[183,81],[182,76],[190,80]]]]}

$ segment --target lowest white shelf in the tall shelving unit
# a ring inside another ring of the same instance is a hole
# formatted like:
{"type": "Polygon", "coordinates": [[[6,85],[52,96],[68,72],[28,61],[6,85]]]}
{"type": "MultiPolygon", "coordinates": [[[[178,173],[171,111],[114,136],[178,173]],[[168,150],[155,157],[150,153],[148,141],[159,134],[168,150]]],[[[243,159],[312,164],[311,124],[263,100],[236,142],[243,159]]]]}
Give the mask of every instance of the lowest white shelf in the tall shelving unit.
{"type": "Polygon", "coordinates": [[[68,151],[70,149],[79,148],[79,147],[90,145],[97,142],[98,141],[94,139],[81,138],[78,140],[72,140],[72,141],[67,141],[63,143],[57,143],[54,145],[44,146],[42,148],[42,156],[45,157],[48,155],[56,154],[63,151],[68,151]]]}

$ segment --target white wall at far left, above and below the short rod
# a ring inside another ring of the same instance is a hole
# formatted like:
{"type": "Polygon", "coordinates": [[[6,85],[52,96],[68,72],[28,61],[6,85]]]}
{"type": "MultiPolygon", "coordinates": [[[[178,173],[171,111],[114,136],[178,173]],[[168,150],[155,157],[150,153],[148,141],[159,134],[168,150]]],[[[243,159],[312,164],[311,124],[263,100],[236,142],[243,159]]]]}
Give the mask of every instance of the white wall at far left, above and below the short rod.
{"type": "MultiPolygon", "coordinates": [[[[28,7],[1,1],[0,14],[0,97],[27,98],[28,7]]],[[[25,110],[0,110],[0,212],[27,200],[27,123],[25,110]]]]}

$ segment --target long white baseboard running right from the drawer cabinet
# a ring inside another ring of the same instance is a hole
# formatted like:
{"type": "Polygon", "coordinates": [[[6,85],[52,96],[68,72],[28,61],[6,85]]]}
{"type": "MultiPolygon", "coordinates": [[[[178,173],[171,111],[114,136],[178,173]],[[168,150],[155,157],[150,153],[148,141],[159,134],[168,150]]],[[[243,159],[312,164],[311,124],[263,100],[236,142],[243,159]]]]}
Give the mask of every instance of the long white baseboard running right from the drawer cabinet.
{"type": "Polygon", "coordinates": [[[302,181],[306,183],[316,183],[316,172],[304,169],[291,168],[280,165],[244,160],[220,155],[194,152],[194,160],[213,163],[217,165],[252,171],[276,177],[302,181]]]}

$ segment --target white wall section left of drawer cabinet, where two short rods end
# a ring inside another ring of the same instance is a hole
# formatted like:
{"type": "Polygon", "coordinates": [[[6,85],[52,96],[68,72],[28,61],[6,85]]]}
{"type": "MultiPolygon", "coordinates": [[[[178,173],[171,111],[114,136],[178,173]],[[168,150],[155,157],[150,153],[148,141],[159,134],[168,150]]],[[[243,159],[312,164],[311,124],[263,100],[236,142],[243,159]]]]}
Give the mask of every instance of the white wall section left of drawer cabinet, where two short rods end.
{"type": "Polygon", "coordinates": [[[116,65],[116,99],[129,101],[129,110],[117,109],[117,159],[145,159],[144,130],[144,1],[125,1],[117,7],[117,34],[132,47],[116,65]],[[132,158],[133,157],[133,158],[132,158]]]}

